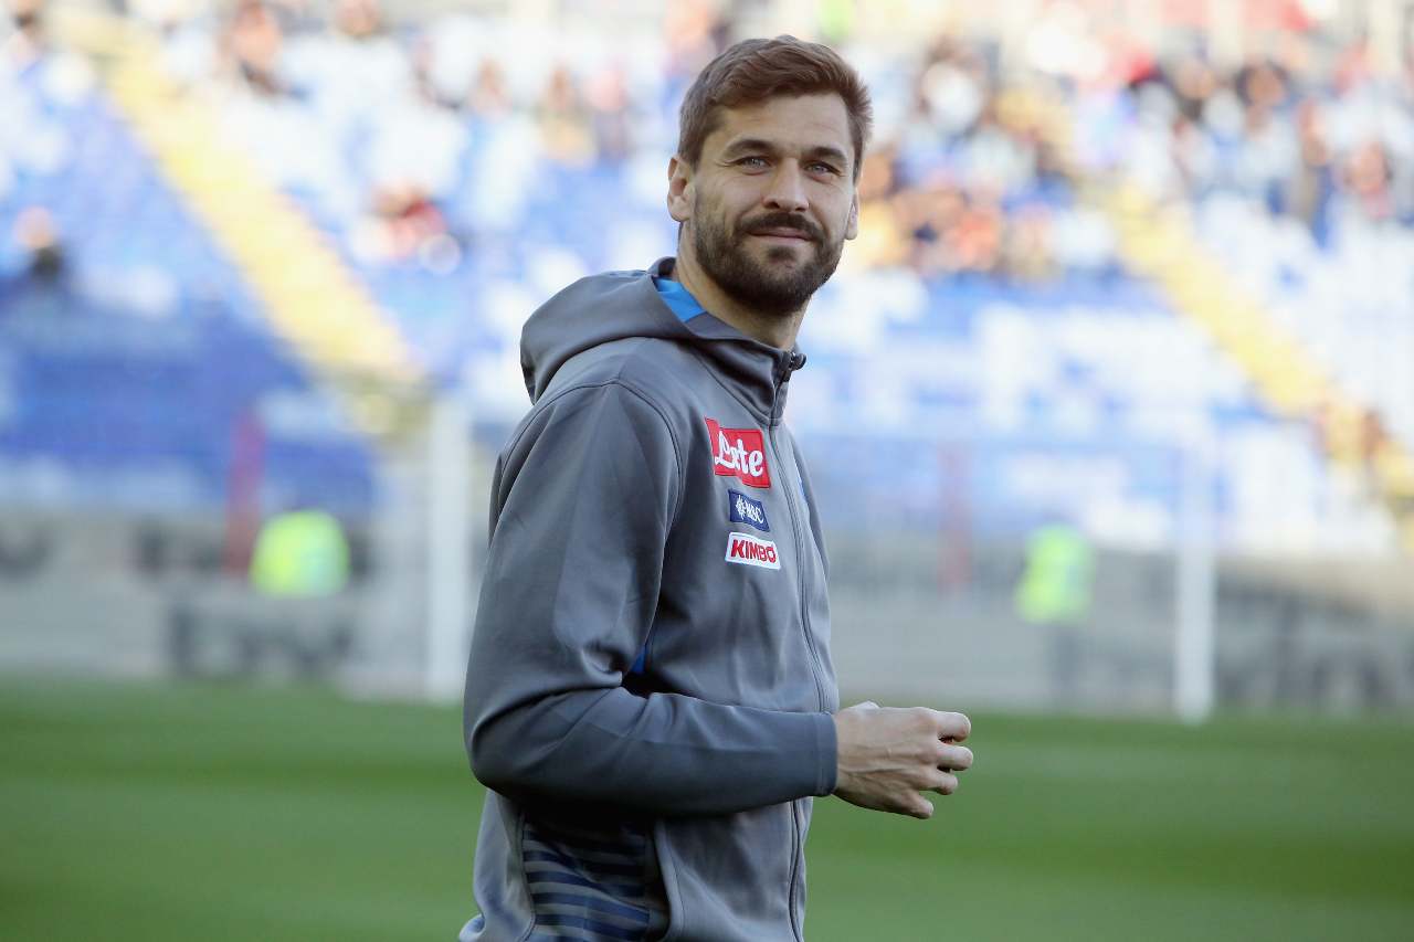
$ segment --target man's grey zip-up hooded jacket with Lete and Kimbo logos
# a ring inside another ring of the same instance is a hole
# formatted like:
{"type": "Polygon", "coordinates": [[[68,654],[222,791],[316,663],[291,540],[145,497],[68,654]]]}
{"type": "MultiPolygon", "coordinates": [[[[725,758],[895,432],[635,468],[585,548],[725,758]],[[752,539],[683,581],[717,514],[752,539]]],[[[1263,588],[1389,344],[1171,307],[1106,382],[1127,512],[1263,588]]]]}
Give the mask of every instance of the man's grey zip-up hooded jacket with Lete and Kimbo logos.
{"type": "Polygon", "coordinates": [[[467,668],[488,789],[462,942],[802,939],[836,785],[826,554],[781,424],[803,362],[583,279],[522,335],[467,668]]]}

